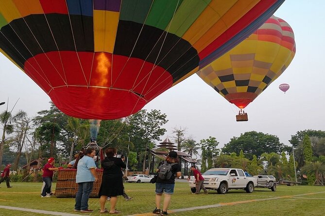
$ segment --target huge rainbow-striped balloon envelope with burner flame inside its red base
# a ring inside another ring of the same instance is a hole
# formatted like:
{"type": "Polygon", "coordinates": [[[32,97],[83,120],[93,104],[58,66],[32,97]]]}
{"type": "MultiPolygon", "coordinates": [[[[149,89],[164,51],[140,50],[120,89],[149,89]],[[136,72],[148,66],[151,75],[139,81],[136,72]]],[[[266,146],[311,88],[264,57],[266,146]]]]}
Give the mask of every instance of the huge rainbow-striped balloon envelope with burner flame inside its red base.
{"type": "Polygon", "coordinates": [[[0,0],[0,51],[66,114],[117,119],[254,32],[284,0],[0,0]]]}

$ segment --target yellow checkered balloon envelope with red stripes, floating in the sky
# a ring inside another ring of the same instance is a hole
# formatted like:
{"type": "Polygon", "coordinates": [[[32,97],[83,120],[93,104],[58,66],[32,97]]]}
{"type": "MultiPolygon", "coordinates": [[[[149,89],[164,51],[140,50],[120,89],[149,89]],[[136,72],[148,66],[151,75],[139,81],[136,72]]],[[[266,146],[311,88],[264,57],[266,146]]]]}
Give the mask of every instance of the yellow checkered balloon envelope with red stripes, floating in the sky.
{"type": "Polygon", "coordinates": [[[286,70],[295,52],[291,27],[272,16],[197,75],[230,103],[245,108],[286,70]]]}

